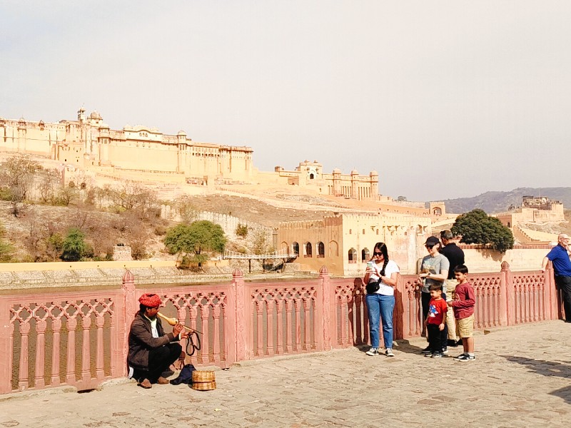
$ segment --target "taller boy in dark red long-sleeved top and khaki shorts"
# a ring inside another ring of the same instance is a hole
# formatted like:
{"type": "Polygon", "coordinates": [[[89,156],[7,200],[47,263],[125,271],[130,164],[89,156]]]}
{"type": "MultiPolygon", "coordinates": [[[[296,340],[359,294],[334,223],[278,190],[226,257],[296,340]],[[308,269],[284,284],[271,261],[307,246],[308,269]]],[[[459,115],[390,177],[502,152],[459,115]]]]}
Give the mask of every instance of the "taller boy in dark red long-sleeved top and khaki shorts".
{"type": "Polygon", "coordinates": [[[454,268],[454,276],[458,280],[456,290],[454,292],[454,300],[448,302],[454,310],[456,319],[456,335],[462,338],[464,353],[455,357],[458,361],[472,361],[476,357],[474,355],[474,305],[476,297],[474,288],[468,282],[468,267],[458,265],[454,268]]]}

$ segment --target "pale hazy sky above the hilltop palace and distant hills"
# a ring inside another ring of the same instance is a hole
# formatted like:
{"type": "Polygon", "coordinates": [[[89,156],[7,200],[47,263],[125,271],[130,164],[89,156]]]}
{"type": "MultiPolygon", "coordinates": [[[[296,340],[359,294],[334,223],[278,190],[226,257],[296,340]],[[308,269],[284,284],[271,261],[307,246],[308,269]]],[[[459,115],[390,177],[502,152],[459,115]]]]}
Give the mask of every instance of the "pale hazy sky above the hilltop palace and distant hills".
{"type": "Polygon", "coordinates": [[[571,185],[571,1],[1,1],[0,116],[184,130],[409,200],[571,185]]]}

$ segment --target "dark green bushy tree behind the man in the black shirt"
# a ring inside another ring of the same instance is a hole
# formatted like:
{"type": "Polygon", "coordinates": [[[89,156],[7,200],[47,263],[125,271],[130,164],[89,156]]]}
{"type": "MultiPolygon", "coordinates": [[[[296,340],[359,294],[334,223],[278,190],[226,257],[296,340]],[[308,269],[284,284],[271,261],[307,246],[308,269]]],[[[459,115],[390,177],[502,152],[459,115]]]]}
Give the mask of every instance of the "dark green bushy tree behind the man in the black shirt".
{"type": "Polygon", "coordinates": [[[512,231],[483,210],[475,209],[459,215],[451,231],[454,235],[462,236],[461,243],[490,245],[500,253],[513,248],[512,231]]]}

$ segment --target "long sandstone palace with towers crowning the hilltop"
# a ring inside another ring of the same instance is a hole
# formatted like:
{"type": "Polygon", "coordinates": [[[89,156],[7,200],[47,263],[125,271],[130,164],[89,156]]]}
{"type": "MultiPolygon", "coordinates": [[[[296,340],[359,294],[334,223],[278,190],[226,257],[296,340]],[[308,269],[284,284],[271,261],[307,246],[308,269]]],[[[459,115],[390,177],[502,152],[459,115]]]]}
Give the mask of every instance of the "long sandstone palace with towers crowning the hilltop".
{"type": "Polygon", "coordinates": [[[323,173],[317,161],[301,162],[293,170],[277,166],[260,172],[253,167],[253,150],[246,146],[200,143],[184,131],[176,136],[146,126],[110,129],[101,115],[89,116],[81,108],[75,121],[58,123],[4,119],[0,117],[0,151],[44,156],[66,165],[116,178],[155,182],[276,183],[312,186],[318,193],[357,200],[378,200],[378,173],[343,174],[335,169],[323,173]]]}

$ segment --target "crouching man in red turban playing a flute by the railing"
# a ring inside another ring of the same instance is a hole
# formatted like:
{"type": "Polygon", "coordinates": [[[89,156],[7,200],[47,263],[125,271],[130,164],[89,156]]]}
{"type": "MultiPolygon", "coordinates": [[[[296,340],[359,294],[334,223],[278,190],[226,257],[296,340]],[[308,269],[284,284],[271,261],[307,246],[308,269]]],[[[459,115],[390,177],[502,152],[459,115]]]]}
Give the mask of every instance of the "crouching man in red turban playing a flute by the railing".
{"type": "Polygon", "coordinates": [[[129,331],[127,362],[133,367],[133,377],[138,385],[151,388],[153,383],[168,384],[161,374],[179,357],[182,347],[173,343],[188,336],[183,325],[177,324],[172,333],[166,333],[156,316],[161,297],[145,294],[139,298],[140,310],[136,313],[129,331]]]}

